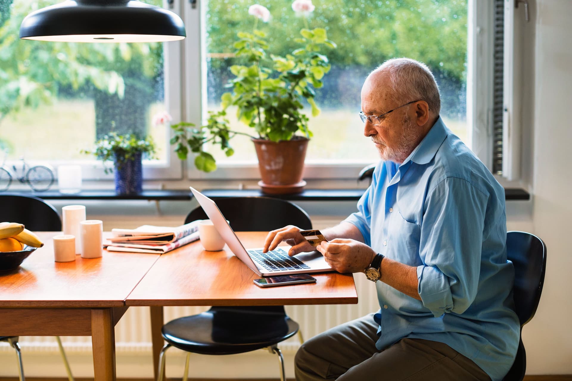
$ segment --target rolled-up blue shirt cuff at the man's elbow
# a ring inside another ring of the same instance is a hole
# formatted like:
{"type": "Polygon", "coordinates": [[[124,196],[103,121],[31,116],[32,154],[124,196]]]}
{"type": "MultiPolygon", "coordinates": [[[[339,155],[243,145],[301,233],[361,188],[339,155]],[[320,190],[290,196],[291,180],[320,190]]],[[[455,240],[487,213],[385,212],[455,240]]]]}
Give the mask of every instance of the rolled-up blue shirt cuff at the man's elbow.
{"type": "Polygon", "coordinates": [[[436,267],[417,267],[417,291],[423,306],[429,308],[435,318],[453,309],[453,298],[449,280],[443,272],[436,267]]]}

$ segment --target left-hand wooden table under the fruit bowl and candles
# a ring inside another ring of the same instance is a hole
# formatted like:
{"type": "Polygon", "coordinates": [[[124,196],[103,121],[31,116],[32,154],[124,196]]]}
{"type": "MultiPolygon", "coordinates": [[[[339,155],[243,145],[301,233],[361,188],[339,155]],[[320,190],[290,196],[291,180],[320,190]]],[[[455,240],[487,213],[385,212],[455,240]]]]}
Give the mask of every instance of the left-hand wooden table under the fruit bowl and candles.
{"type": "MultiPolygon", "coordinates": [[[[0,272],[1,336],[92,336],[96,381],[116,379],[114,327],[125,299],[158,254],[107,252],[54,262],[52,239],[11,272],[0,272]]],[[[1,254],[0,254],[1,255],[1,254]]]]}

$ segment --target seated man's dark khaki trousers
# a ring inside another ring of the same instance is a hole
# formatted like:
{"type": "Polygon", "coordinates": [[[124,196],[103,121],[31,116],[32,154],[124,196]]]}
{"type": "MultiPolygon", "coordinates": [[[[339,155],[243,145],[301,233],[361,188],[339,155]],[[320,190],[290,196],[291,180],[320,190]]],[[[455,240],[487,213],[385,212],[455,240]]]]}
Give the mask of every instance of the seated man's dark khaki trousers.
{"type": "Polygon", "coordinates": [[[377,330],[370,314],[309,339],[296,354],[296,380],[490,381],[447,344],[402,339],[380,352],[375,347],[377,330]]]}

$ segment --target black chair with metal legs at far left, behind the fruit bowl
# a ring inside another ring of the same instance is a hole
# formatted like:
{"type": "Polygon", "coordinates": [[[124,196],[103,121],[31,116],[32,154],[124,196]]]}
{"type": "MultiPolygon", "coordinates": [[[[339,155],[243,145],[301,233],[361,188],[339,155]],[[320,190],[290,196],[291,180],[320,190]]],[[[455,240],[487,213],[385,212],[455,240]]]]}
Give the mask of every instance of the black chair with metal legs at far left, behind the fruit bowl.
{"type": "MultiPolygon", "coordinates": [[[[62,220],[59,218],[57,210],[49,203],[35,196],[25,196],[19,194],[0,195],[0,222],[18,222],[24,224],[28,230],[35,231],[61,231],[62,220]]],[[[63,363],[66,367],[67,378],[73,381],[72,371],[67,362],[66,354],[63,351],[62,341],[59,336],[55,339],[58,342],[59,352],[62,355],[63,363]]],[[[20,380],[24,380],[24,370],[22,366],[22,355],[18,344],[18,336],[0,336],[0,341],[6,341],[16,351],[18,357],[18,371],[20,380]]]]}

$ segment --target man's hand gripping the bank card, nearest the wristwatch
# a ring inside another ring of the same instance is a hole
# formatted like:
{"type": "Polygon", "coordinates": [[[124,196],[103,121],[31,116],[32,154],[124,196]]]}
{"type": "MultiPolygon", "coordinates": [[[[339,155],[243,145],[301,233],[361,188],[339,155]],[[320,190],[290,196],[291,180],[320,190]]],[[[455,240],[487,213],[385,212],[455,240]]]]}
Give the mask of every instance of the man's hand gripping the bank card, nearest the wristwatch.
{"type": "Polygon", "coordinates": [[[354,239],[336,238],[320,242],[316,250],[338,272],[363,272],[370,266],[376,252],[367,244],[354,239]]]}

